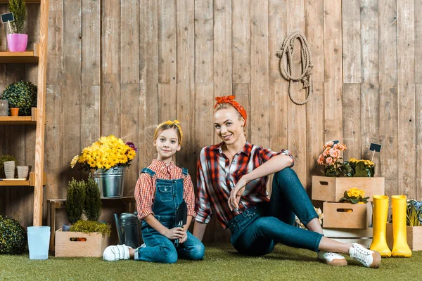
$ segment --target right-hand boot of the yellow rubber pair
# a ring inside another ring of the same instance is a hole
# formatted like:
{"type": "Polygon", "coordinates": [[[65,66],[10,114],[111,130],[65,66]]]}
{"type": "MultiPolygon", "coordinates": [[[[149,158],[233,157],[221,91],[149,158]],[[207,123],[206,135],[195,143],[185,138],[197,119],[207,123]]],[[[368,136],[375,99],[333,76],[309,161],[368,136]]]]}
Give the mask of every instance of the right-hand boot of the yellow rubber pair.
{"type": "Polygon", "coordinates": [[[405,195],[394,195],[392,198],[392,256],[411,256],[411,249],[407,244],[406,211],[407,201],[405,195]]]}

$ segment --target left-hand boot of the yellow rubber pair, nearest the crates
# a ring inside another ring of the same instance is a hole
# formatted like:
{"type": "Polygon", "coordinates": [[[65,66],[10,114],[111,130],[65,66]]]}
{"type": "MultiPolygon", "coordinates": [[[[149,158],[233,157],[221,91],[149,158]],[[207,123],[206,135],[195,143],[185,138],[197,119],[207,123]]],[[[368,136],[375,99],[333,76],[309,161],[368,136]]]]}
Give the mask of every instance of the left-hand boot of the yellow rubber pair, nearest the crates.
{"type": "Polygon", "coordinates": [[[378,251],[383,257],[391,256],[388,248],[385,232],[388,217],[388,196],[373,195],[373,240],[370,249],[378,251]]]}

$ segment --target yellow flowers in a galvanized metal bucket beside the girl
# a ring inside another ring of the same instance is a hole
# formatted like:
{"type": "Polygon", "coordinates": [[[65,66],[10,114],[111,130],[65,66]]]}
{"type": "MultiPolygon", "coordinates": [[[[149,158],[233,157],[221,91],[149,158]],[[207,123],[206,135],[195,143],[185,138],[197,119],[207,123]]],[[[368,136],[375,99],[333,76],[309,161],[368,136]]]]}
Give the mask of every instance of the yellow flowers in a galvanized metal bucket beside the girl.
{"type": "Polygon", "coordinates": [[[124,171],[136,156],[136,151],[134,143],[124,143],[121,138],[113,135],[102,136],[84,148],[80,155],[73,157],[70,166],[73,168],[79,163],[84,170],[91,170],[92,177],[100,188],[101,197],[122,197],[124,171]]]}

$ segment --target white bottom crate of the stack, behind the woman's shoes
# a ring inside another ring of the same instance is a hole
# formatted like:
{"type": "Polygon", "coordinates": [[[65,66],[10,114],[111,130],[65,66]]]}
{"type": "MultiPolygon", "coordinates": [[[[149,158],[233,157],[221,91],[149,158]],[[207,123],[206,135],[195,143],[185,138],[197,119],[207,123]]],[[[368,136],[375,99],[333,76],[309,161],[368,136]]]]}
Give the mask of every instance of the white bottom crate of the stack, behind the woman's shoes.
{"type": "Polygon", "coordinates": [[[347,229],[323,228],[324,236],[343,243],[359,243],[370,247],[372,243],[372,228],[347,229]]]}

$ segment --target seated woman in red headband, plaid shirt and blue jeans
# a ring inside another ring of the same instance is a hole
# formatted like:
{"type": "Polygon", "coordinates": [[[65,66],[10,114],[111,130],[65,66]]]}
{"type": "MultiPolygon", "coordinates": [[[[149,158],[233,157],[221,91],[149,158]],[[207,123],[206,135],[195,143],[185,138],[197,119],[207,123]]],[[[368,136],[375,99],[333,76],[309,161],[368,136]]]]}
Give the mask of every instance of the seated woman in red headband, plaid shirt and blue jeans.
{"type": "Polygon", "coordinates": [[[216,98],[215,133],[222,143],[200,152],[198,203],[193,235],[202,240],[212,214],[231,230],[231,243],[245,255],[269,254],[277,243],[318,252],[333,266],[345,266],[348,254],[364,266],[378,268],[381,255],[360,244],[324,237],[311,200],[293,169],[288,150],[274,152],[246,141],[245,109],[234,96],[216,98]],[[269,174],[274,174],[271,199],[269,174]],[[295,214],[310,230],[293,226],[295,214]]]}

